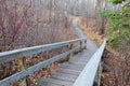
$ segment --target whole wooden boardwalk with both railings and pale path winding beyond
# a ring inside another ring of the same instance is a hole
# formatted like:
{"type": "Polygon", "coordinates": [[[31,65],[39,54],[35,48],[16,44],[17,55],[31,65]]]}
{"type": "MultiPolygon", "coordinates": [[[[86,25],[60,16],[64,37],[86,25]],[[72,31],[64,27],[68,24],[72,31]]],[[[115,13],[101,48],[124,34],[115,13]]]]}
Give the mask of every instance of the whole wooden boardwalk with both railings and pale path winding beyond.
{"type": "Polygon", "coordinates": [[[0,86],[13,86],[14,83],[22,78],[24,78],[22,80],[22,83],[25,84],[22,86],[26,86],[28,83],[25,81],[27,75],[32,74],[53,62],[65,59],[73,53],[78,54],[67,62],[58,66],[56,72],[50,72],[50,78],[39,77],[34,86],[92,86],[98,68],[101,67],[100,61],[106,45],[106,39],[104,39],[103,44],[99,47],[95,41],[83,35],[80,28],[76,26],[77,20],[78,19],[74,20],[74,25],[79,39],[0,53],[0,63],[17,60],[22,68],[20,72],[1,80],[0,86]],[[75,43],[78,43],[77,47],[73,47],[75,43]],[[26,63],[24,59],[27,58],[27,56],[44,53],[63,46],[67,46],[69,49],[29,68],[25,67],[26,63]]]}

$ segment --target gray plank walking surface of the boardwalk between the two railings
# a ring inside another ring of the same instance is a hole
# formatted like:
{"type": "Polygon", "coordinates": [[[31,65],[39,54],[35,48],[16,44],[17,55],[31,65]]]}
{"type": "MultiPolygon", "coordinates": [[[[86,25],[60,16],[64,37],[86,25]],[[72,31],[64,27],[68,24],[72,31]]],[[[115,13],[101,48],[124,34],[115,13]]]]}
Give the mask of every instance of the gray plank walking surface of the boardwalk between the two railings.
{"type": "Polygon", "coordinates": [[[87,42],[87,49],[79,53],[69,61],[58,66],[56,72],[51,72],[51,77],[40,77],[37,81],[38,86],[73,86],[80,72],[83,70],[86,64],[92,55],[96,52],[99,46],[90,39],[87,42]]]}

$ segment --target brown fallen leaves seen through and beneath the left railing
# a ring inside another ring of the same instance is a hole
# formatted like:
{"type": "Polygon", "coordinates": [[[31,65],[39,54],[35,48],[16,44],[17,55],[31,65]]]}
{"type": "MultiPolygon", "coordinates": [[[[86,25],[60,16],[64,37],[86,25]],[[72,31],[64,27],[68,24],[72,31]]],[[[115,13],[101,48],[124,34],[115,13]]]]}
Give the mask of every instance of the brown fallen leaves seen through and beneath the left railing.
{"type": "MultiPolygon", "coordinates": [[[[34,64],[37,64],[39,62],[42,62],[47,59],[53,58],[54,56],[62,54],[64,52],[66,52],[68,49],[67,46],[57,48],[57,49],[52,49],[46,53],[39,53],[32,56],[28,56],[25,58],[25,67],[29,68],[34,64]]],[[[65,61],[65,60],[64,60],[65,61]]],[[[54,62],[51,63],[50,66],[28,75],[28,80],[30,83],[30,86],[32,86],[35,84],[35,82],[37,81],[37,78],[39,77],[51,77],[50,72],[54,72],[56,71],[56,67],[58,67],[61,63],[60,62],[54,62]]],[[[18,64],[18,61],[12,61],[12,62],[8,62],[8,63],[3,63],[0,66],[0,80],[3,80],[8,76],[11,76],[12,74],[20,72],[21,68],[18,64]],[[10,70],[10,71],[9,71],[10,70]]],[[[18,84],[21,83],[21,81],[18,81],[17,83],[15,83],[13,86],[18,86],[18,84]]]]}

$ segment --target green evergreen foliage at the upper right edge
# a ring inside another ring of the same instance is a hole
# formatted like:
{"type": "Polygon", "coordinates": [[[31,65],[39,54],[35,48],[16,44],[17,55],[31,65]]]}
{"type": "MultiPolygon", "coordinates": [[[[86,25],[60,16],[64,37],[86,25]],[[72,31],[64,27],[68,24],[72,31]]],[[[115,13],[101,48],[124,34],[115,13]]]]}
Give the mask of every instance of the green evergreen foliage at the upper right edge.
{"type": "MultiPolygon", "coordinates": [[[[120,3],[122,0],[110,0],[113,3],[120,3]]],[[[110,27],[107,29],[108,44],[114,48],[120,48],[125,44],[127,52],[130,51],[130,2],[125,4],[119,11],[102,11],[100,13],[109,18],[110,27]],[[128,39],[128,40],[126,40],[128,39]]],[[[126,48],[123,51],[126,51],[126,48]]]]}

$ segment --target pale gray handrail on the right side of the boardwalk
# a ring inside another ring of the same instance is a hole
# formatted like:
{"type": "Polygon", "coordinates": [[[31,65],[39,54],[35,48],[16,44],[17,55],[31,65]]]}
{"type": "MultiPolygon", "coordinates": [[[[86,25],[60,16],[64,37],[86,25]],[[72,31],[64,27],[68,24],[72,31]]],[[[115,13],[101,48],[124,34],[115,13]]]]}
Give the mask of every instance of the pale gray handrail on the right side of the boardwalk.
{"type": "Polygon", "coordinates": [[[98,67],[106,45],[106,39],[101,47],[95,52],[92,58],[89,60],[83,71],[80,73],[73,86],[93,86],[94,77],[98,71],[98,67]]]}

